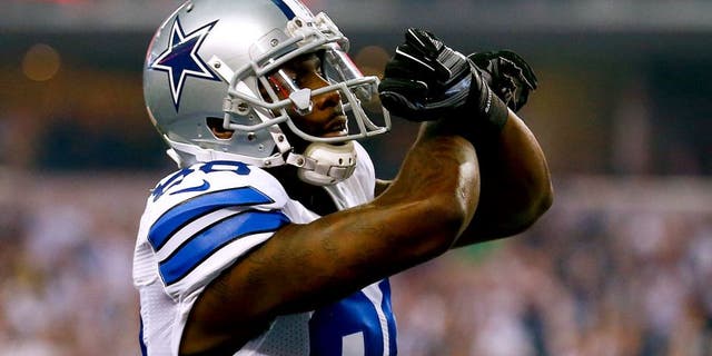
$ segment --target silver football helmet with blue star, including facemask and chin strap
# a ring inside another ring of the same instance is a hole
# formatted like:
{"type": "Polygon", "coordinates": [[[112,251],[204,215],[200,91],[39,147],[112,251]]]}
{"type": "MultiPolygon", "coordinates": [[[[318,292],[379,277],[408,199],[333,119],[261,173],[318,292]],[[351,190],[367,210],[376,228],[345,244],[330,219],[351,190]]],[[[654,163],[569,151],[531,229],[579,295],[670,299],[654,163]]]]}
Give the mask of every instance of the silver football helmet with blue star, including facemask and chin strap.
{"type": "MultiPolygon", "coordinates": [[[[377,77],[364,77],[350,61],[348,39],[325,13],[314,16],[298,0],[191,0],[156,32],[144,68],[144,95],[151,121],[179,167],[199,161],[238,160],[258,167],[294,165],[315,185],[348,178],[356,164],[350,140],[384,134],[362,102],[377,98],[377,77]],[[299,88],[280,67],[318,52],[328,86],[299,88]],[[261,89],[261,90],[260,90],[261,89]],[[309,135],[288,110],[306,115],[312,99],[338,92],[354,132],[309,135]],[[234,130],[219,138],[208,127],[221,120],[234,130]],[[294,151],[285,129],[310,141],[294,151]]],[[[379,116],[380,117],[380,116],[379,116]]]]}

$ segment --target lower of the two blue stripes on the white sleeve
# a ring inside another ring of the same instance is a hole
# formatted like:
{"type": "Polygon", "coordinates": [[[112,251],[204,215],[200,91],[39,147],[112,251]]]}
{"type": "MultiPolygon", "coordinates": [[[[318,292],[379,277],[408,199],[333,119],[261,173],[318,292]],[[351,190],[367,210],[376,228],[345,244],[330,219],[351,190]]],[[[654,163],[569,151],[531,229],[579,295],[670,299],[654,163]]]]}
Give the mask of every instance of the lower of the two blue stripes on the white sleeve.
{"type": "Polygon", "coordinates": [[[288,222],[289,218],[280,211],[250,210],[231,216],[194,235],[176,253],[160,263],[159,273],[166,285],[171,285],[225,245],[243,236],[276,231],[288,222]]]}

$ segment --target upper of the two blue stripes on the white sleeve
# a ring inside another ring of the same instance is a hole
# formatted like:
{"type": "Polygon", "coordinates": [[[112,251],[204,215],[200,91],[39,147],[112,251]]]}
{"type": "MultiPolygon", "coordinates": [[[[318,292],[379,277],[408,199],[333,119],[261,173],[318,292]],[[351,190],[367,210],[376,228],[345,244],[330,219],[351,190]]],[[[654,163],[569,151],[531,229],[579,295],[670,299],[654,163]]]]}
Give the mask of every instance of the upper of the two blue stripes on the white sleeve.
{"type": "Polygon", "coordinates": [[[269,197],[253,187],[220,190],[186,200],[166,211],[148,231],[148,241],[158,251],[170,236],[186,224],[208,214],[231,206],[271,204],[269,197]]]}

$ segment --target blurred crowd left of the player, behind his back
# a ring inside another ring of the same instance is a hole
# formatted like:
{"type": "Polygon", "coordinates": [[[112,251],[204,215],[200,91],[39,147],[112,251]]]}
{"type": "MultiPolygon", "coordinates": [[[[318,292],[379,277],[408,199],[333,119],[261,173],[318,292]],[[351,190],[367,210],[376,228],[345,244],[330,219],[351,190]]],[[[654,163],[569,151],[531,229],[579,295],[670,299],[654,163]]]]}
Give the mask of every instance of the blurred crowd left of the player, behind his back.
{"type": "Polygon", "coordinates": [[[0,355],[138,355],[146,180],[0,174],[0,355]]]}

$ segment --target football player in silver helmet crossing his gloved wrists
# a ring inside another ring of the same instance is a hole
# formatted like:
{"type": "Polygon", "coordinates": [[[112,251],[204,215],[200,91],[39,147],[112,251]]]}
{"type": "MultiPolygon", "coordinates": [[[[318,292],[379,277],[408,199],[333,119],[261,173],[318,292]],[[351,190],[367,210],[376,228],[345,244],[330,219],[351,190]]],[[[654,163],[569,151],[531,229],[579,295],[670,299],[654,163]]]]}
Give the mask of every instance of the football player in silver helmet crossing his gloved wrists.
{"type": "Polygon", "coordinates": [[[160,26],[145,99],[179,170],[136,245],[144,355],[395,355],[389,276],[548,208],[518,56],[409,29],[379,81],[347,50],[297,0],[192,0],[160,26]],[[423,122],[393,181],[357,141],[388,111],[423,122]]]}

